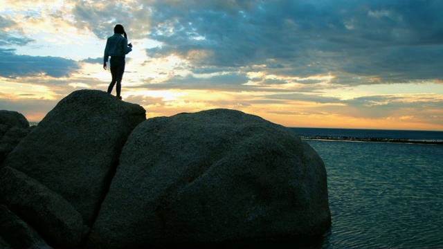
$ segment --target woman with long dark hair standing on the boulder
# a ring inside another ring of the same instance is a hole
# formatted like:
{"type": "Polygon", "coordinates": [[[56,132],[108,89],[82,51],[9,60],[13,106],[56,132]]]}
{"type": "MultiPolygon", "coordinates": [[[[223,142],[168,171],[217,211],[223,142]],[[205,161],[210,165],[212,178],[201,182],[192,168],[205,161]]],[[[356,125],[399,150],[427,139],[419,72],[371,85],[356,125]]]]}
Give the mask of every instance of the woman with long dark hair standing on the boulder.
{"type": "Polygon", "coordinates": [[[106,62],[111,56],[111,75],[112,81],[108,87],[108,93],[112,92],[114,84],[117,83],[117,98],[120,100],[121,82],[123,73],[125,73],[125,56],[132,51],[132,44],[127,44],[127,35],[125,29],[120,24],[114,27],[114,35],[109,37],[106,42],[105,55],[103,57],[103,68],[107,68],[106,62]],[[123,35],[123,36],[122,36],[123,35]]]}

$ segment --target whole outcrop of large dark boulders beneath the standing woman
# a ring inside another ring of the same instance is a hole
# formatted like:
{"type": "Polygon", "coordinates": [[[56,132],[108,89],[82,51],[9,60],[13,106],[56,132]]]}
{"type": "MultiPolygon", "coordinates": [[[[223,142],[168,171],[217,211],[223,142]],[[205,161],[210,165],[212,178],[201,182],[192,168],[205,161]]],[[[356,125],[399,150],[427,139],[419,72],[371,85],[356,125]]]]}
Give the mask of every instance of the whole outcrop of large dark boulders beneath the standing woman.
{"type": "Polygon", "coordinates": [[[102,91],[60,101],[0,186],[0,247],[297,244],[331,222],[323,161],[290,129],[228,109],[145,120],[102,91]]]}

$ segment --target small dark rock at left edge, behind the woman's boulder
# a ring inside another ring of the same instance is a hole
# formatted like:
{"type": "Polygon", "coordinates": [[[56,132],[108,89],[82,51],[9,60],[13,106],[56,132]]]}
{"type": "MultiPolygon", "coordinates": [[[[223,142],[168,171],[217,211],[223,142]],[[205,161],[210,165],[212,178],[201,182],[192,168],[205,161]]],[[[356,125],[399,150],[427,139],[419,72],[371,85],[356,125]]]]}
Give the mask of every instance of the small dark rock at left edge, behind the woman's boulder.
{"type": "Polygon", "coordinates": [[[0,164],[30,132],[28,120],[17,111],[0,110],[0,164]]]}

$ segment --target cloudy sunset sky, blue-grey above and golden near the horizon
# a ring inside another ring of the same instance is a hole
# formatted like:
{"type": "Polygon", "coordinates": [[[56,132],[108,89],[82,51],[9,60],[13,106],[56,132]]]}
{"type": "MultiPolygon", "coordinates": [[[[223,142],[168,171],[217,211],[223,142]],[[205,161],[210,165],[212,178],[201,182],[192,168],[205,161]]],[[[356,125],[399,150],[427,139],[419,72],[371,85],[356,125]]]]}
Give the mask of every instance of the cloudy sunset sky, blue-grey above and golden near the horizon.
{"type": "MultiPolygon", "coordinates": [[[[123,100],[147,118],[226,108],[286,127],[443,131],[443,1],[0,2],[0,109],[39,122],[107,91],[125,27],[123,100]]],[[[112,94],[115,93],[115,89],[112,94]]]]}

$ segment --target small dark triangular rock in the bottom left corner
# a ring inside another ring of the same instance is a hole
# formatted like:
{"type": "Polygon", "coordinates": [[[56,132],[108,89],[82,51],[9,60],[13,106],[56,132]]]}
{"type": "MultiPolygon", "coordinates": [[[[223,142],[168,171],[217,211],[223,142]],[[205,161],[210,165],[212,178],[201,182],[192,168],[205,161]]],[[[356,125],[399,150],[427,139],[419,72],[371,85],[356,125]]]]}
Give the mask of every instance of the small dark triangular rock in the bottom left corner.
{"type": "Polygon", "coordinates": [[[37,231],[0,205],[0,237],[5,241],[0,248],[51,248],[37,231]],[[6,242],[7,241],[7,242],[6,242]]]}

